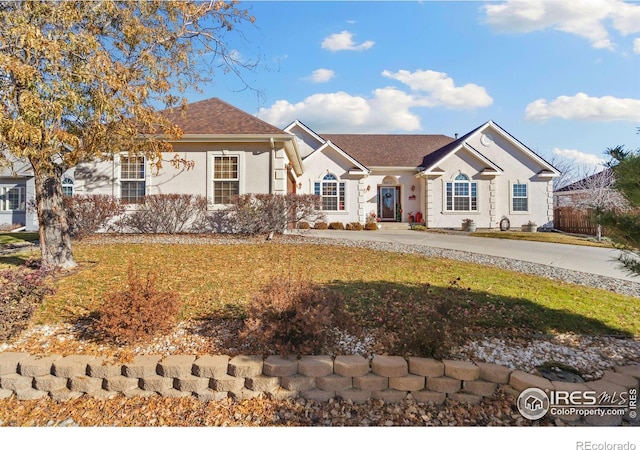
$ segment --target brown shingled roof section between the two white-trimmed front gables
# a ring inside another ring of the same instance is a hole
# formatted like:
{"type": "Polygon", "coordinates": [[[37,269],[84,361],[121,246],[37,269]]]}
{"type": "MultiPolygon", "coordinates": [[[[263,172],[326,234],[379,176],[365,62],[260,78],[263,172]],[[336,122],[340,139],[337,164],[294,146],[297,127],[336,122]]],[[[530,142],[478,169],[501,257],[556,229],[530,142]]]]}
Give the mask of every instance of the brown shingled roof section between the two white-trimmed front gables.
{"type": "Polygon", "coordinates": [[[453,141],[442,134],[323,134],[367,167],[418,167],[423,158],[453,141]]]}

